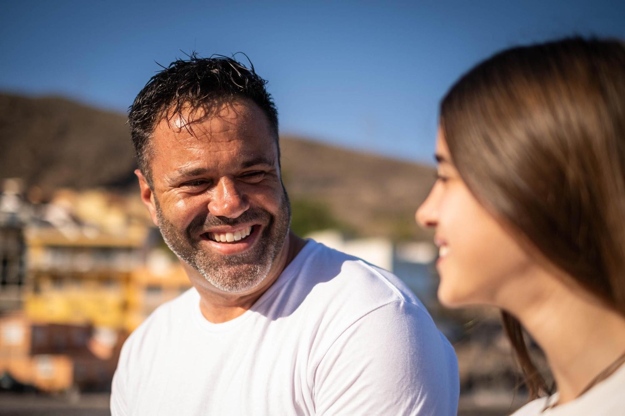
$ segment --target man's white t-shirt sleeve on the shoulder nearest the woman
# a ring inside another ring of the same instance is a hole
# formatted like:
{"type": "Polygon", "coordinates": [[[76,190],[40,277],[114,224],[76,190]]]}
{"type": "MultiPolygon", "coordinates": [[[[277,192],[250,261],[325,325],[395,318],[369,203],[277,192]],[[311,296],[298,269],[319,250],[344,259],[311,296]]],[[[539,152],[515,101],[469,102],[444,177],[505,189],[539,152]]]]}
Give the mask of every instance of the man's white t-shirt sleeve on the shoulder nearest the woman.
{"type": "Polygon", "coordinates": [[[456,415],[457,360],[429,315],[404,301],[386,304],[334,341],[314,376],[315,413],[456,415]]]}

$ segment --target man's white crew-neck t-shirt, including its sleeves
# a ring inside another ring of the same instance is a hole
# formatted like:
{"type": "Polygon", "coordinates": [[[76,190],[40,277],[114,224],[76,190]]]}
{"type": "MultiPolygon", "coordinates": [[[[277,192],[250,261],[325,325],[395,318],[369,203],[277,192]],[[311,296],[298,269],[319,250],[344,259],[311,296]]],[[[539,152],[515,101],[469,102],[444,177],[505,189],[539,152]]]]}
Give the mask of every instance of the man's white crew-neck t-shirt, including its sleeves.
{"type": "Polygon", "coordinates": [[[126,340],[111,412],[456,415],[454,350],[386,270],[309,240],[241,316],[208,322],[190,289],[126,340]]]}

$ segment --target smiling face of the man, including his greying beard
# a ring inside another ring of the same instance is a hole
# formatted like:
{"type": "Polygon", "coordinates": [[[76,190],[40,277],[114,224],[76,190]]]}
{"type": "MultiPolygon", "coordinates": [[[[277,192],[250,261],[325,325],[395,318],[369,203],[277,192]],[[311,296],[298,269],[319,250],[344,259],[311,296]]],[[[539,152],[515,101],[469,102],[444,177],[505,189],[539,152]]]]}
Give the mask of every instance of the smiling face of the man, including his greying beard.
{"type": "Polygon", "coordinates": [[[153,219],[169,248],[224,292],[259,285],[288,232],[274,137],[261,109],[237,100],[163,120],[151,139],[153,219]]]}

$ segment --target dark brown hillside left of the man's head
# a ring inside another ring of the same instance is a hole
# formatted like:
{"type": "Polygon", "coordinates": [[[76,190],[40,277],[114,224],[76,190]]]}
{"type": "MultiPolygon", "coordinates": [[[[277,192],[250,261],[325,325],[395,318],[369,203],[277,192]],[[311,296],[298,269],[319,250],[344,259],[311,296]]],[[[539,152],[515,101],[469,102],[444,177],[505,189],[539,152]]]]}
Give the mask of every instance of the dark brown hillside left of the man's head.
{"type": "Polygon", "coordinates": [[[59,98],[0,95],[0,177],[44,188],[110,186],[134,170],[126,117],[59,98]]]}

